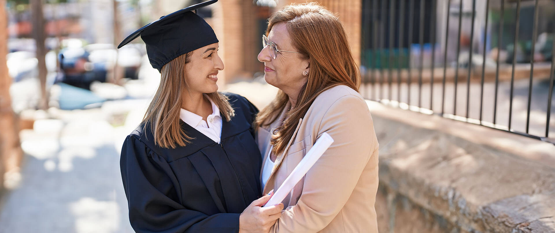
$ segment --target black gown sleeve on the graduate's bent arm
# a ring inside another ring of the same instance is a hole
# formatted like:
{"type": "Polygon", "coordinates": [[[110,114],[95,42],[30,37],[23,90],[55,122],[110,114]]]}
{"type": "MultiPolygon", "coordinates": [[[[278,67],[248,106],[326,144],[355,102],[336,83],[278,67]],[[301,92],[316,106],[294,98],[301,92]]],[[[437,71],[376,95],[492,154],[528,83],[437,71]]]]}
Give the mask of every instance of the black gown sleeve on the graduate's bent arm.
{"type": "Polygon", "coordinates": [[[136,232],[239,231],[239,214],[209,216],[181,205],[179,183],[169,164],[133,135],[123,144],[120,169],[136,232]]]}

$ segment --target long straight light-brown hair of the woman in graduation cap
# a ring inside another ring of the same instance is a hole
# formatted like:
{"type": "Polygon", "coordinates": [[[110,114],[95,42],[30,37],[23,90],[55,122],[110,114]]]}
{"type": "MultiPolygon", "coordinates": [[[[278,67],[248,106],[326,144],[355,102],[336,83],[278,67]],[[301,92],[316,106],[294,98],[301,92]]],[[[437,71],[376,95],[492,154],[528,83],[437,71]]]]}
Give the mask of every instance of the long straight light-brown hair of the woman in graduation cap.
{"type": "MultiPolygon", "coordinates": [[[[188,94],[185,67],[186,63],[190,62],[192,54],[193,52],[189,52],[180,55],[162,67],[160,85],[142,121],[144,130],[147,125],[152,129],[154,144],[162,148],[173,149],[177,146],[185,146],[193,139],[179,123],[183,96],[188,94]]],[[[218,106],[224,120],[230,121],[235,116],[235,111],[226,95],[218,92],[207,95],[218,106]]]]}

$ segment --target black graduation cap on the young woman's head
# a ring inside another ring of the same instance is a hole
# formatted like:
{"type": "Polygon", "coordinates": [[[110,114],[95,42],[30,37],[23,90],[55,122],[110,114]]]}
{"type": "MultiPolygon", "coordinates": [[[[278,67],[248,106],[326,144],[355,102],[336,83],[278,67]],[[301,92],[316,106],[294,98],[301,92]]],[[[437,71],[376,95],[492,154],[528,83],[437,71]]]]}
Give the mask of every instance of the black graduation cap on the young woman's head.
{"type": "Polygon", "coordinates": [[[125,38],[118,48],[141,36],[147,44],[147,55],[152,67],[162,72],[162,67],[171,60],[209,44],[217,43],[214,30],[198,16],[196,9],[218,0],[210,0],[160,17],[125,38]]]}

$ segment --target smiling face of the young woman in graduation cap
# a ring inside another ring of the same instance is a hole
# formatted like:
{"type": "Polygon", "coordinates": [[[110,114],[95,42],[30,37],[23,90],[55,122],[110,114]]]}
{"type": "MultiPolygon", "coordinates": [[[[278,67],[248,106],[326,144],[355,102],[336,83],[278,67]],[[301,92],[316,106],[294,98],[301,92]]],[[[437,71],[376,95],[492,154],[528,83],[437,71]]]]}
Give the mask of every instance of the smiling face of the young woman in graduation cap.
{"type": "Polygon", "coordinates": [[[185,75],[191,93],[213,93],[218,91],[218,71],[224,63],[218,55],[218,43],[196,49],[185,64],[185,75]]]}

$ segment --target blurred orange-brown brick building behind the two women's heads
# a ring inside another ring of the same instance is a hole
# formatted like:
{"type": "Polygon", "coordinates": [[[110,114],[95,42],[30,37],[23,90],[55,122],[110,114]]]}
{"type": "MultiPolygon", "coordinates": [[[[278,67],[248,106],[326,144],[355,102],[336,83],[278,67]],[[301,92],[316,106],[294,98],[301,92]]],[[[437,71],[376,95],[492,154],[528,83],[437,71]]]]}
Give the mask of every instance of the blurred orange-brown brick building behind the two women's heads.
{"type": "MultiPolygon", "coordinates": [[[[220,40],[221,57],[225,63],[223,77],[226,83],[253,79],[262,72],[264,64],[258,61],[262,49],[262,34],[271,13],[292,0],[225,0],[214,4],[209,23],[220,40]]],[[[310,2],[310,1],[309,1],[310,2]]],[[[357,63],[360,61],[361,1],[323,0],[322,6],[336,12],[344,23],[351,49],[357,63]]]]}

